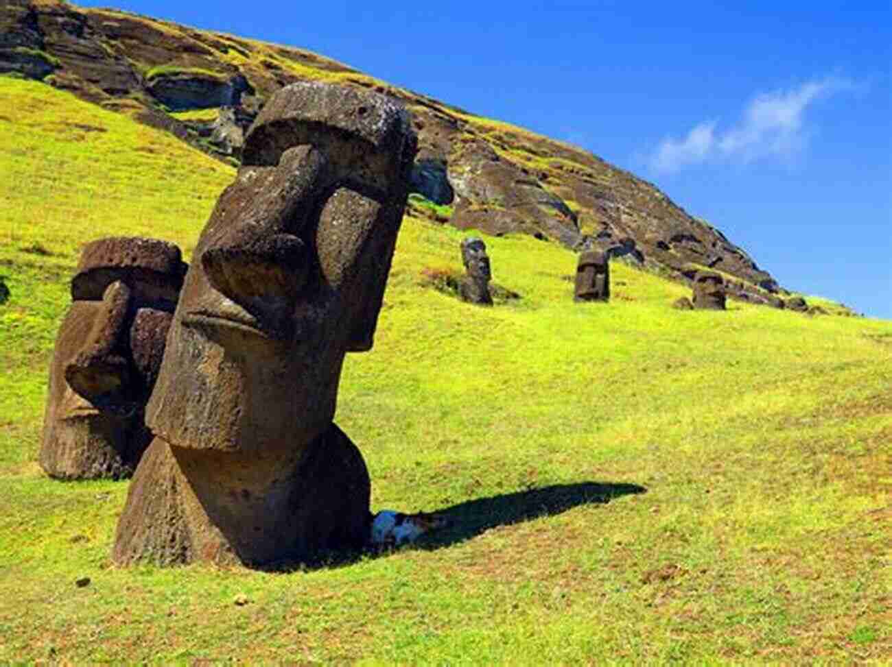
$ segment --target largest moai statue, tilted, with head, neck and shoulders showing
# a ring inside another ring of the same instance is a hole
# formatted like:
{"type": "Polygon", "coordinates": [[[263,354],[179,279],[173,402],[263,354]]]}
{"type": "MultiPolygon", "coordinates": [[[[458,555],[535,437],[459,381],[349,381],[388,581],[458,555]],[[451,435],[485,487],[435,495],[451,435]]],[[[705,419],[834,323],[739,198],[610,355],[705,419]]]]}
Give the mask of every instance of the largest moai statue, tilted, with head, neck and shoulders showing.
{"type": "Polygon", "coordinates": [[[417,138],[346,86],[286,86],[194,251],[112,559],[309,562],[368,541],[370,483],[333,423],[372,347],[417,138]]]}

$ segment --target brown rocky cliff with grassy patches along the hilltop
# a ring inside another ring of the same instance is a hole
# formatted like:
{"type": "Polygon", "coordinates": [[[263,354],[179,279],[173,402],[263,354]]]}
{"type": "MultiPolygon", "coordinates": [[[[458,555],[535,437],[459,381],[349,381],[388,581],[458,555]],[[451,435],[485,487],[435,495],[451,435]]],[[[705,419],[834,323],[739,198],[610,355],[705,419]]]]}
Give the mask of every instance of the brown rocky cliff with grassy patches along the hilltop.
{"type": "MultiPolygon", "coordinates": [[[[414,189],[451,207],[452,225],[607,251],[682,279],[713,268],[751,301],[779,289],[721,232],[629,172],[298,48],[58,0],[4,0],[3,72],[126,112],[228,160],[237,160],[244,130],[282,86],[321,79],[374,88],[412,111],[420,142],[414,189]]],[[[433,218],[442,221],[438,211],[433,218]]]]}

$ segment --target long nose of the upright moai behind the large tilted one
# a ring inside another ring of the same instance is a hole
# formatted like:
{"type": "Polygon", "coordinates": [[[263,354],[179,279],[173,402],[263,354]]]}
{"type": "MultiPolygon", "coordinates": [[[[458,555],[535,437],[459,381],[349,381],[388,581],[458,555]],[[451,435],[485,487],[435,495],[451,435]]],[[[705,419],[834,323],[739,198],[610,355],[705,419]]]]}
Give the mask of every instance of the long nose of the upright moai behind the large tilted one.
{"type": "Polygon", "coordinates": [[[116,281],[106,287],[86,344],[65,366],[65,380],[71,389],[93,403],[120,395],[130,381],[127,359],[115,352],[127,325],[129,306],[126,284],[116,281]]]}

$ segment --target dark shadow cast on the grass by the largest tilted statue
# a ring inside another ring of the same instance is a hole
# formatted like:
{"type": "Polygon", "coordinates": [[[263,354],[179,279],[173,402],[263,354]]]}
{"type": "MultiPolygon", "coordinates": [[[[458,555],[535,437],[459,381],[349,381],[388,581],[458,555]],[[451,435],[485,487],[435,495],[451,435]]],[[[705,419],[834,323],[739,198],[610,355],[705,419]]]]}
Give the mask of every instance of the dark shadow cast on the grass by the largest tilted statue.
{"type": "Polygon", "coordinates": [[[646,492],[647,489],[638,484],[576,482],[503,493],[489,498],[476,498],[434,510],[434,514],[444,517],[449,522],[449,526],[431,532],[406,547],[329,553],[320,556],[313,563],[280,561],[275,564],[266,564],[260,569],[273,572],[293,572],[320,567],[343,567],[354,564],[363,557],[390,556],[402,548],[434,551],[473,539],[483,532],[499,526],[509,526],[543,516],[563,514],[567,510],[581,505],[606,505],[615,498],[646,492]]]}

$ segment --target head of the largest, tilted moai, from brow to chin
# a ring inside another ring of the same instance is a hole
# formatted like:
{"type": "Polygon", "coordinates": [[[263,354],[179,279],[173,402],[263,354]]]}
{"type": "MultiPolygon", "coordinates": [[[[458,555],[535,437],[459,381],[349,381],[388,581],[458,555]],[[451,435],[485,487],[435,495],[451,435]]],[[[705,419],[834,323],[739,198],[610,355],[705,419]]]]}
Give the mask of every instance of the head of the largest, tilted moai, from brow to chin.
{"type": "Polygon", "coordinates": [[[146,412],[162,440],[273,460],[331,423],[344,355],[372,346],[416,150],[408,123],[343,87],[270,100],[186,276],[146,412]]]}

